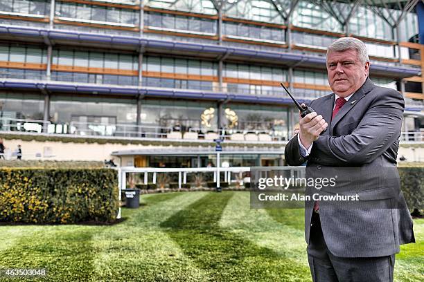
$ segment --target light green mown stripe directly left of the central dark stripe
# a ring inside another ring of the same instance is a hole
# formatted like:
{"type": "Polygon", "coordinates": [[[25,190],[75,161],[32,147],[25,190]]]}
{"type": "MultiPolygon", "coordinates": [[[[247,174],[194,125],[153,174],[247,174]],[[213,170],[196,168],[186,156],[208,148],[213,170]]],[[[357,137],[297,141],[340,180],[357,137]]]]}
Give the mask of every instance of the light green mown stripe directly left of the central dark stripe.
{"type": "Polygon", "coordinates": [[[155,194],[141,197],[141,209],[124,225],[94,237],[96,277],[99,281],[205,281],[206,274],[184,256],[159,227],[163,220],[206,195],[203,193],[155,194]]]}

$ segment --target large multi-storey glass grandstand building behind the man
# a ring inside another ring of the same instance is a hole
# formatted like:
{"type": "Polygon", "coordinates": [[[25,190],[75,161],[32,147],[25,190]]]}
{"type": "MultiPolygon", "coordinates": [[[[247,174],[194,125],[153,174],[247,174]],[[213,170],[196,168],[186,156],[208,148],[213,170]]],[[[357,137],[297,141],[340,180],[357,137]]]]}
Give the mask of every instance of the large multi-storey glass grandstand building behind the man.
{"type": "Polygon", "coordinates": [[[423,143],[417,0],[0,0],[0,137],[24,158],[137,167],[213,164],[221,138],[231,166],[282,165],[299,118],[279,84],[330,93],[326,46],[344,36],[404,95],[403,143],[423,143]]]}

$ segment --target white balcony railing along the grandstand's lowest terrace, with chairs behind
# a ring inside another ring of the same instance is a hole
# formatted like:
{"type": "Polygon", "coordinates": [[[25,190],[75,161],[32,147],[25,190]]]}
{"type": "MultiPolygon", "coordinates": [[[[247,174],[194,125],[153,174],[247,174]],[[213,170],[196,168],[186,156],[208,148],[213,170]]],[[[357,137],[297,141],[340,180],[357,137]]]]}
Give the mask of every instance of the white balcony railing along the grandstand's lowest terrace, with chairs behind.
{"type": "MultiPolygon", "coordinates": [[[[0,131],[10,133],[44,133],[91,138],[134,138],[172,140],[181,142],[213,142],[223,139],[233,142],[284,142],[292,137],[287,130],[269,129],[213,129],[156,124],[102,124],[69,122],[54,124],[43,120],[0,118],[0,131]]],[[[403,132],[400,141],[424,142],[424,131],[403,132]]]]}

